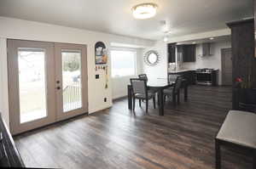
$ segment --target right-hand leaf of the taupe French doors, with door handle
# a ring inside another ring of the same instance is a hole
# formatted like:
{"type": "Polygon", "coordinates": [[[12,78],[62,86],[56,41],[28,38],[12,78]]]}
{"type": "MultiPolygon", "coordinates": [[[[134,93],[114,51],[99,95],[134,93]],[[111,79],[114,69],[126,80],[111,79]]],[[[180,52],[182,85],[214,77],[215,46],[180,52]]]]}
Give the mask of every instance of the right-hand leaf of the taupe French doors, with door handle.
{"type": "Polygon", "coordinates": [[[83,45],[55,43],[57,118],[83,114],[87,108],[86,48],[83,45]]]}

